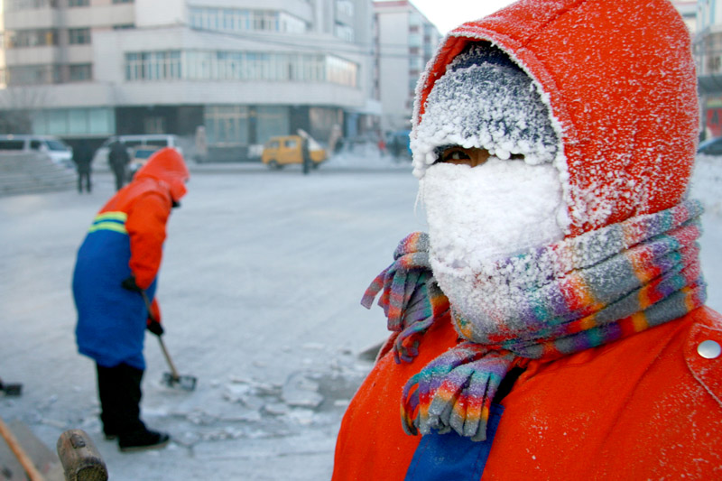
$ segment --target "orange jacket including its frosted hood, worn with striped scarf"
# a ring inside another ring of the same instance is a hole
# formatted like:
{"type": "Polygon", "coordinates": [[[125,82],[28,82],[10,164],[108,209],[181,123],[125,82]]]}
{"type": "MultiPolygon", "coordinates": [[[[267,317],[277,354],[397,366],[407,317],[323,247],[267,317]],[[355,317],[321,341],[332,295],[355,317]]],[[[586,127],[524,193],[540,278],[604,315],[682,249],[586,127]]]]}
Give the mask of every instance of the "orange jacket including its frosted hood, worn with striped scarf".
{"type": "MultiPolygon", "coordinates": [[[[421,77],[416,124],[434,82],[470,42],[505,51],[546,96],[566,158],[568,237],[683,197],[697,138],[696,75],[689,32],[669,2],[530,0],[465,23],[421,77]]],[[[409,378],[458,343],[441,320],[412,363],[379,358],[344,416],[334,480],[430,478],[412,458],[434,446],[405,434],[399,412],[409,378]]],[[[606,346],[531,361],[501,402],[481,472],[449,461],[438,479],[472,471],[504,480],[720,478],[720,345],[722,317],[699,308],[606,346]]]]}

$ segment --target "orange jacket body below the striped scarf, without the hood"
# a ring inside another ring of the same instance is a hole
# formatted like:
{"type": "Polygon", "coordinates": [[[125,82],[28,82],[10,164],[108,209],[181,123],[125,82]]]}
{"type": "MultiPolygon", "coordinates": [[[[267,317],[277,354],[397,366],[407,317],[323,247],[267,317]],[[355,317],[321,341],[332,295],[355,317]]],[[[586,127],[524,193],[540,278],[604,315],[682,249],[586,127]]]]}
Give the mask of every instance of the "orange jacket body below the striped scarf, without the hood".
{"type": "MultiPolygon", "coordinates": [[[[394,364],[392,353],[379,360],[341,425],[335,481],[432,478],[428,471],[411,474],[421,436],[405,434],[398,410],[388,406],[399,405],[408,378],[456,344],[456,336],[450,322],[440,323],[412,364],[394,364]]],[[[722,316],[700,308],[604,347],[532,361],[501,402],[477,479],[719,478],[722,356],[701,356],[705,341],[722,345],[722,316]]],[[[472,471],[463,464],[446,469],[439,479],[469,479],[472,471]]]]}

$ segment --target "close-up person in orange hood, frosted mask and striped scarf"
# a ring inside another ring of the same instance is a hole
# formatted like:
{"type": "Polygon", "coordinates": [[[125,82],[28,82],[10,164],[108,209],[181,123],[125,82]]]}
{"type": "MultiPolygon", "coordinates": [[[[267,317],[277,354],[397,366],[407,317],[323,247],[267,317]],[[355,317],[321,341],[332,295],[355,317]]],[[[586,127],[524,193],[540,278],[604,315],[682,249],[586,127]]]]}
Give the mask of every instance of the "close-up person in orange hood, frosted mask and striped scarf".
{"type": "Polygon", "coordinates": [[[412,119],[429,233],[362,301],[393,334],[335,481],[722,477],[696,85],[667,0],[523,0],[449,33],[412,119]]]}

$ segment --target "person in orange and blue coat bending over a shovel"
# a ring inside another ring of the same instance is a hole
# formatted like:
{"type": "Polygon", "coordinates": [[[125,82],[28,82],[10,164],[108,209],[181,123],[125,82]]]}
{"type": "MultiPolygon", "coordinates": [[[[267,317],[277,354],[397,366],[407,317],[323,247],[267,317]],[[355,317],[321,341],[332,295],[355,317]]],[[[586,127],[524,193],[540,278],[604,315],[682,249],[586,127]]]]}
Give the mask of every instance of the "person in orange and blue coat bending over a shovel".
{"type": "Polygon", "coordinates": [[[163,332],[154,294],[165,226],[189,177],[178,151],[153,153],[100,209],[78,251],[72,282],[78,348],[96,361],[103,431],[106,439],[118,439],[121,450],[157,448],[169,440],[140,419],[143,338],[145,328],[163,332]],[[151,313],[143,296],[152,302],[151,313]]]}

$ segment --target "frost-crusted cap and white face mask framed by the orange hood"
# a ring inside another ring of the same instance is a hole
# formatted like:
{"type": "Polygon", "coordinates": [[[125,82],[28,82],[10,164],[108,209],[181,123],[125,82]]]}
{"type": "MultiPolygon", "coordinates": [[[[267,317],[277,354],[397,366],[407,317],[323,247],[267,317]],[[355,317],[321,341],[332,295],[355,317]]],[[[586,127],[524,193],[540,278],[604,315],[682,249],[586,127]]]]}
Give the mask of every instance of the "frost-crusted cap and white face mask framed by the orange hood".
{"type": "Polygon", "coordinates": [[[563,238],[558,143],[532,80],[497,49],[471,47],[432,89],[414,162],[434,276],[466,319],[493,329],[500,319],[490,294],[504,291],[511,304],[523,296],[495,281],[492,262],[563,238]],[[474,168],[442,162],[449,144],[491,156],[474,168]]]}

